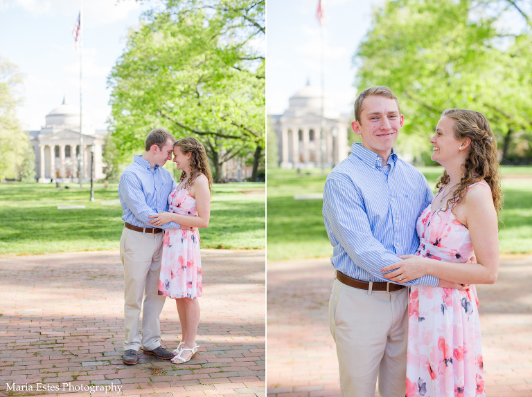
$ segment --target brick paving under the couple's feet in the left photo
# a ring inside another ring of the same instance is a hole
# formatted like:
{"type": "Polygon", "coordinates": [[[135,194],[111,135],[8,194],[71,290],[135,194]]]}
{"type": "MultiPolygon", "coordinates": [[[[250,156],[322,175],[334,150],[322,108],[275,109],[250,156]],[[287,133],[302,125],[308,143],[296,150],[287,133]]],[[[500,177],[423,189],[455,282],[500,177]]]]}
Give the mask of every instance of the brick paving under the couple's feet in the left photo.
{"type": "MultiPolygon", "coordinates": [[[[140,351],[139,364],[129,366],[118,251],[0,258],[0,396],[111,383],[108,394],[75,394],[264,396],[265,251],[202,250],[202,264],[197,356],[180,365],[140,351]],[[13,382],[33,391],[8,390],[13,382]]],[[[180,326],[171,299],[161,333],[163,346],[174,349],[180,326]]]]}

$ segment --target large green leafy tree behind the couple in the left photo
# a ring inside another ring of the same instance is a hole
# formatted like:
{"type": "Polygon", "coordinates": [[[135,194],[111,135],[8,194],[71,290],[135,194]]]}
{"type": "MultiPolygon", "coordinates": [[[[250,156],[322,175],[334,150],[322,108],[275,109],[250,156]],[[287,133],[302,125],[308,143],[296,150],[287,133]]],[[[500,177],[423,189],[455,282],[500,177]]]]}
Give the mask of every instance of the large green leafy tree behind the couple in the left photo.
{"type": "Polygon", "coordinates": [[[218,182],[224,162],[252,153],[255,179],[265,147],[264,1],[168,0],[144,17],[109,76],[120,154],[161,126],[197,136],[218,182]]]}

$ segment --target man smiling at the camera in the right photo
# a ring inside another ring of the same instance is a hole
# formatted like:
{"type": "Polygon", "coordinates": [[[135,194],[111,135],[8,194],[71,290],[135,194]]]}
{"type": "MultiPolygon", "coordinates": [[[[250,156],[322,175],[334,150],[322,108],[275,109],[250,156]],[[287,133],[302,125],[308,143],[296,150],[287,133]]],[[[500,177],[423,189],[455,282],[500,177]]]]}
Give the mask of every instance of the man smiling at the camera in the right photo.
{"type": "Polygon", "coordinates": [[[351,124],[362,145],[353,144],[351,156],[330,172],[323,192],[323,220],[337,270],[329,321],[343,397],[373,397],[377,376],[381,396],[405,396],[405,286],[461,288],[431,275],[405,284],[382,277],[381,269],[400,261],[398,255],[416,252],[416,221],[433,198],[423,174],[393,150],[402,124],[389,88],[362,91],[351,124]]]}

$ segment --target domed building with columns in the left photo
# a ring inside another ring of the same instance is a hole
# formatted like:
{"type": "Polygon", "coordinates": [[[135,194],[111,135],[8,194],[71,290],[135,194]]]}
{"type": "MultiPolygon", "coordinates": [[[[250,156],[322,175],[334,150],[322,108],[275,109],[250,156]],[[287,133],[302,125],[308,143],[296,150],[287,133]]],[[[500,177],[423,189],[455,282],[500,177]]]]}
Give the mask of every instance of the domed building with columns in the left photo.
{"type": "MultiPolygon", "coordinates": [[[[106,129],[94,129],[83,113],[83,181],[91,177],[91,147],[94,146],[94,178],[103,174],[102,146],[106,129]]],[[[51,181],[76,181],[79,174],[80,154],[80,107],[63,103],[46,115],[46,124],[38,131],[29,131],[30,142],[35,150],[35,174],[40,183],[51,181]]]]}

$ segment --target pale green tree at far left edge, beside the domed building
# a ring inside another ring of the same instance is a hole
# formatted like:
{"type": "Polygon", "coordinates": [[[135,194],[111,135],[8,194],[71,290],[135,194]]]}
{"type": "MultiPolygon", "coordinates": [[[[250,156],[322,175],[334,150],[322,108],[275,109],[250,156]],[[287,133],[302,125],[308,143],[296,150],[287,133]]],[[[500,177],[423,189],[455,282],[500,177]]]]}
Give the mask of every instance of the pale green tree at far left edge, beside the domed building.
{"type": "Polygon", "coordinates": [[[22,102],[19,68],[0,57],[0,179],[35,178],[35,154],[22,131],[16,107],[22,102]]]}

